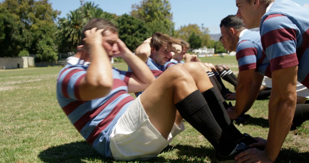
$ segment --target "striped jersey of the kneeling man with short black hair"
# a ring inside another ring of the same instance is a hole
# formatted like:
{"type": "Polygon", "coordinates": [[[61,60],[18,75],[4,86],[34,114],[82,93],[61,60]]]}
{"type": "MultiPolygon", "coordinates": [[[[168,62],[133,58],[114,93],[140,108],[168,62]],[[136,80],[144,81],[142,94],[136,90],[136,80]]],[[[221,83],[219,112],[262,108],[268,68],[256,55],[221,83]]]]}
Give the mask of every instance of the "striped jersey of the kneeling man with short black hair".
{"type": "Polygon", "coordinates": [[[263,52],[259,31],[244,29],[236,47],[239,71],[256,69],[263,76],[271,77],[269,60],[263,52]]]}

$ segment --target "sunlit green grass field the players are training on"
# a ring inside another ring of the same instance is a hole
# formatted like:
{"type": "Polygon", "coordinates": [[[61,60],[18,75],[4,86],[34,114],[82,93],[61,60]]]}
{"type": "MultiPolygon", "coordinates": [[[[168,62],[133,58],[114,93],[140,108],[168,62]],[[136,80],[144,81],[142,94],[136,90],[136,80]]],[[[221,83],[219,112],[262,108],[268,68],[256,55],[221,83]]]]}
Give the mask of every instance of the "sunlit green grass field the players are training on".
{"type": "MultiPolygon", "coordinates": [[[[201,59],[225,63],[238,73],[235,56],[201,59]]],[[[125,63],[114,67],[127,69],[125,63]]],[[[61,69],[0,70],[0,162],[119,162],[100,156],[66,118],[56,99],[56,77],[61,69]]],[[[252,118],[236,127],[267,138],[268,100],[256,101],[248,114],[252,118]]],[[[214,148],[188,123],[185,126],[157,158],[136,162],[213,162],[214,148]]],[[[288,134],[276,162],[309,162],[308,137],[309,121],[288,134]]]]}

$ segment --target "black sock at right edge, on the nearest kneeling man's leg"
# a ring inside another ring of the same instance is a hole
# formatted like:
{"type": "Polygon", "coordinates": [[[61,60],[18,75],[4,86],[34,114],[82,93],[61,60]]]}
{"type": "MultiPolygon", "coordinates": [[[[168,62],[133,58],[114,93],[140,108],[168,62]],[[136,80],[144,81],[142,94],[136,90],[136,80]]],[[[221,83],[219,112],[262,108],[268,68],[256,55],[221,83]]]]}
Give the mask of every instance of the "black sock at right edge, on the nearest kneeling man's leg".
{"type": "Polygon", "coordinates": [[[309,120],[309,104],[297,104],[293,118],[294,126],[299,126],[309,120]]]}

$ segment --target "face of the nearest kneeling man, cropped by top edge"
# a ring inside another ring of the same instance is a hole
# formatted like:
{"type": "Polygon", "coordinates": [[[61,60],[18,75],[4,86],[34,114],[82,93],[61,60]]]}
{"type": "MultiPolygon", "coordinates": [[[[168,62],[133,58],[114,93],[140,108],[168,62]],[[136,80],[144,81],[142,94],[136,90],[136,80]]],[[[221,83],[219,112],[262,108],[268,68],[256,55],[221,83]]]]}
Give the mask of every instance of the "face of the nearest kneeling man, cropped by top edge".
{"type": "Polygon", "coordinates": [[[257,8],[254,0],[248,2],[247,0],[236,0],[236,6],[238,7],[236,16],[243,20],[246,28],[260,27],[261,17],[257,14],[257,8]]]}

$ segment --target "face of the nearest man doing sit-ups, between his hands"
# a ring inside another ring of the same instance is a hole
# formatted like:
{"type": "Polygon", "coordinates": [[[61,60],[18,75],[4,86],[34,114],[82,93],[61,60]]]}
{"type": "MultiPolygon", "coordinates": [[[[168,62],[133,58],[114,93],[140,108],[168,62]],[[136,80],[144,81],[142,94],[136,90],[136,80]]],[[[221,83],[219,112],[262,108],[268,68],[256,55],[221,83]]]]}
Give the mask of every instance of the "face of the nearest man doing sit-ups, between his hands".
{"type": "Polygon", "coordinates": [[[107,52],[108,57],[112,57],[115,52],[118,52],[117,40],[119,39],[118,33],[104,32],[103,47],[107,52]]]}

